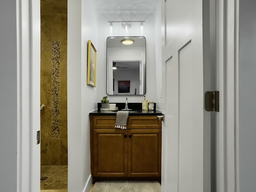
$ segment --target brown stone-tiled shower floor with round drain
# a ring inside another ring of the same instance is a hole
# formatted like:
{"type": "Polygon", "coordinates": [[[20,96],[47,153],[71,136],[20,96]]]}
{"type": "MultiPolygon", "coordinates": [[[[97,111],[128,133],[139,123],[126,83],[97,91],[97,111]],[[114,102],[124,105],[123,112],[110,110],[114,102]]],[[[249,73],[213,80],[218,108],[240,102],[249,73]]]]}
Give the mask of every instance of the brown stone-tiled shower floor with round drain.
{"type": "Polygon", "coordinates": [[[40,178],[41,190],[68,189],[68,166],[66,165],[42,165],[40,178]]]}

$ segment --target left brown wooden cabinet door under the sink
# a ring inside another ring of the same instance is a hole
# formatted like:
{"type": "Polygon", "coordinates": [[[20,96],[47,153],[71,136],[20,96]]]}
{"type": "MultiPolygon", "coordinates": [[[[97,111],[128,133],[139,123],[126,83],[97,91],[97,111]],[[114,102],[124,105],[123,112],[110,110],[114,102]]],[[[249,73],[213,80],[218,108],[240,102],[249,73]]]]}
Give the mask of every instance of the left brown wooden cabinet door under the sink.
{"type": "Polygon", "coordinates": [[[95,177],[127,176],[127,130],[94,129],[95,177]]]}

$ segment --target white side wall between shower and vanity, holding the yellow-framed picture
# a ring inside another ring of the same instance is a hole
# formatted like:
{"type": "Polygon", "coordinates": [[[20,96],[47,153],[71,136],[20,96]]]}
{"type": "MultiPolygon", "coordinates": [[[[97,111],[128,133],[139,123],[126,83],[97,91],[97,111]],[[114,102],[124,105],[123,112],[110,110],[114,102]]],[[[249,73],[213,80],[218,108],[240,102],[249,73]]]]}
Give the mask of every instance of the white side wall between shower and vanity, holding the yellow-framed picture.
{"type": "MultiPolygon", "coordinates": [[[[98,48],[93,0],[68,1],[68,190],[89,191],[89,112],[96,109],[96,88],[87,85],[88,40],[98,48]]],[[[100,57],[100,54],[98,54],[100,57]]],[[[99,66],[98,66],[99,68],[99,66]]]]}

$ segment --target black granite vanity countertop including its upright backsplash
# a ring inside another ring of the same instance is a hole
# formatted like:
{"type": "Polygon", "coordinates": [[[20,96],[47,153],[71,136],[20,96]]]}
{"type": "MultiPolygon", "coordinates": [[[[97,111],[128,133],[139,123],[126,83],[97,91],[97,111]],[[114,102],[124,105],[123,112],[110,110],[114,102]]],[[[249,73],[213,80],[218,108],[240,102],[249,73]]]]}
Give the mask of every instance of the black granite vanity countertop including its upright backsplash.
{"type": "MultiPolygon", "coordinates": [[[[124,109],[124,103],[116,103],[116,107],[118,110],[124,109]]],[[[98,109],[90,112],[90,115],[116,115],[116,111],[101,111],[101,103],[98,103],[98,109]]],[[[128,108],[132,109],[132,112],[129,112],[129,116],[136,116],[136,115],[162,115],[162,111],[156,109],[156,103],[154,103],[154,110],[142,110],[141,103],[128,103],[128,108]]]]}

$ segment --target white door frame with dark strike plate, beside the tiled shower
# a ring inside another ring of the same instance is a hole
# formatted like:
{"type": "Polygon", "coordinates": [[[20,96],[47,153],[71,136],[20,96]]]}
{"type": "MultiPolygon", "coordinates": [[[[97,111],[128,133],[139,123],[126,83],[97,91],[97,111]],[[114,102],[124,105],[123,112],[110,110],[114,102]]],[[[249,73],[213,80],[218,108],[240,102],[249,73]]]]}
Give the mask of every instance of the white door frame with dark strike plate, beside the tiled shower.
{"type": "Polygon", "coordinates": [[[17,192],[40,191],[40,0],[17,0],[17,192]]]}

